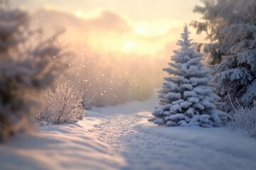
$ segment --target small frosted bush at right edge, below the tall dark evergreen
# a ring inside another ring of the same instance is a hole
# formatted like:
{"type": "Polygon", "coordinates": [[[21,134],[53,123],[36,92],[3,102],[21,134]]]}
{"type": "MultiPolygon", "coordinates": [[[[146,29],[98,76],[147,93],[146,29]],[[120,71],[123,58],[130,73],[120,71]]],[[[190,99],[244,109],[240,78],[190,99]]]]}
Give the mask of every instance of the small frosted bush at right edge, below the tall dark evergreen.
{"type": "Polygon", "coordinates": [[[254,101],[253,107],[239,106],[235,108],[230,125],[233,129],[242,130],[246,136],[256,137],[256,101],[254,101]]]}

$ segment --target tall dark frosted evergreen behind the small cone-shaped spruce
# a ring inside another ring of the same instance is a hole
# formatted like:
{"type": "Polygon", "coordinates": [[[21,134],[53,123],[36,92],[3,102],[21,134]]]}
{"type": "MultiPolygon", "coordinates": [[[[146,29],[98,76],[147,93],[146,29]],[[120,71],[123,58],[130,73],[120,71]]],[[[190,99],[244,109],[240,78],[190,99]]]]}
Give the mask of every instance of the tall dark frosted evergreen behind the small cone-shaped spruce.
{"type": "Polygon", "coordinates": [[[238,98],[242,106],[253,105],[256,99],[256,1],[205,0],[195,11],[203,14],[203,22],[192,23],[198,33],[205,31],[212,41],[205,47],[210,64],[215,67],[213,83],[230,112],[238,98]]]}

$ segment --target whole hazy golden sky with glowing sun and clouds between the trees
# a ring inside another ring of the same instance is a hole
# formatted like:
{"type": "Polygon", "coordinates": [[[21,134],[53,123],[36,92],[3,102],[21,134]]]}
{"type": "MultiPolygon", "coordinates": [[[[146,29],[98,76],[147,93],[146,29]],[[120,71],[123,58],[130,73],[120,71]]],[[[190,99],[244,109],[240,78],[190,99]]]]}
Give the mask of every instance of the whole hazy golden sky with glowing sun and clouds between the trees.
{"type": "MultiPolygon", "coordinates": [[[[31,11],[31,24],[43,28],[45,35],[65,28],[59,41],[75,53],[70,72],[86,79],[82,86],[97,91],[103,103],[148,98],[161,86],[166,75],[161,69],[176,50],[183,26],[200,18],[193,13],[199,0],[17,0],[11,4],[31,11]],[[145,74],[151,74],[151,79],[145,79],[145,74]],[[117,93],[120,90],[124,94],[117,93]]],[[[195,42],[204,41],[203,35],[190,30],[195,42]]]]}

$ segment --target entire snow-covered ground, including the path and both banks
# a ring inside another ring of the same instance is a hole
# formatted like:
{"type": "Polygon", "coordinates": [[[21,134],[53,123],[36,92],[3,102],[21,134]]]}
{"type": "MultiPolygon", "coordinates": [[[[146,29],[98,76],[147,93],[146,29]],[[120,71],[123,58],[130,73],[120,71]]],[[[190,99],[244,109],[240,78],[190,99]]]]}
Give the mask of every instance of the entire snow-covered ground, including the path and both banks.
{"type": "Polygon", "coordinates": [[[147,122],[156,96],[94,108],[75,125],[50,125],[0,145],[0,169],[256,169],[256,140],[225,128],[147,122]]]}

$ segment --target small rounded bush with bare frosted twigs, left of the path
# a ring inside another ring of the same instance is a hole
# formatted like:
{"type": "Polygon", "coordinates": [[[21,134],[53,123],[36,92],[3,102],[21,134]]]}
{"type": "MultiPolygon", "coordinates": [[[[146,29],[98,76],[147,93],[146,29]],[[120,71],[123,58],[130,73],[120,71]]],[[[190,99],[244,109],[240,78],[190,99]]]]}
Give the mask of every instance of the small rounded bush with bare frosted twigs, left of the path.
{"type": "Polygon", "coordinates": [[[59,84],[55,91],[44,91],[41,94],[41,105],[36,113],[38,122],[75,123],[85,115],[82,94],[68,83],[59,84]]]}

